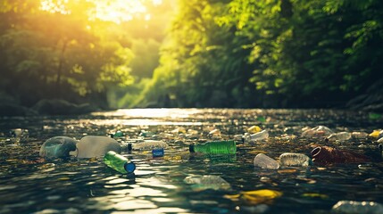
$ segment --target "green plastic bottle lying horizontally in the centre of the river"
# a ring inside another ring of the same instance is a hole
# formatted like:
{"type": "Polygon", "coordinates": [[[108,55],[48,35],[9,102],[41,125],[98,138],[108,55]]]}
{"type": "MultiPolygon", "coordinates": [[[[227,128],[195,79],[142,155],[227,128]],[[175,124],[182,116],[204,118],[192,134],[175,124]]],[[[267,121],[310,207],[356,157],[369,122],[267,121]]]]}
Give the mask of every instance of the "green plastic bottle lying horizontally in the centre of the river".
{"type": "Polygon", "coordinates": [[[235,154],[237,152],[236,142],[229,141],[212,141],[204,144],[189,145],[190,152],[202,152],[208,154],[235,154]]]}

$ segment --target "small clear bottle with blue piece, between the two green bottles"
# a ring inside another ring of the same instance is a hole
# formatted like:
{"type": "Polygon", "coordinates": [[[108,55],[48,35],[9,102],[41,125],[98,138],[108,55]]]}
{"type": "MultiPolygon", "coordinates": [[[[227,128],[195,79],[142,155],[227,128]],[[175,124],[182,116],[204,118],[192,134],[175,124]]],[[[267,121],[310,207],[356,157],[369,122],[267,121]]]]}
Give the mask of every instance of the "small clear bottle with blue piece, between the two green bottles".
{"type": "Polygon", "coordinates": [[[146,140],[137,144],[128,144],[128,151],[141,150],[141,151],[152,151],[153,157],[162,157],[164,150],[168,148],[168,144],[163,141],[146,140]]]}

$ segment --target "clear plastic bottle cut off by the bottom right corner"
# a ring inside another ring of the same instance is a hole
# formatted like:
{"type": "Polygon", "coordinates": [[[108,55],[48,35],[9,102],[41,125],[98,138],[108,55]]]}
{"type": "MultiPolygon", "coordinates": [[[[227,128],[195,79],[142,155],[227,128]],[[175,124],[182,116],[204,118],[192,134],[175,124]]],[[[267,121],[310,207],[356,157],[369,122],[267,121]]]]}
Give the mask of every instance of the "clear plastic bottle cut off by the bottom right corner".
{"type": "Polygon", "coordinates": [[[383,205],[378,202],[339,201],[331,209],[331,213],[383,213],[383,205]]]}

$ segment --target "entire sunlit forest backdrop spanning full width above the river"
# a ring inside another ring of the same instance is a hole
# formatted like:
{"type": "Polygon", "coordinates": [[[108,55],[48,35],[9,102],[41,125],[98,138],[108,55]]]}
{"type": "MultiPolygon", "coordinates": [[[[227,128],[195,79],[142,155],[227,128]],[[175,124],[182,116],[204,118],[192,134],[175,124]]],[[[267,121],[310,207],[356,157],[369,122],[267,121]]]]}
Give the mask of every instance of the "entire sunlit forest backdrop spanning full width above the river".
{"type": "Polygon", "coordinates": [[[26,106],[334,107],[383,86],[379,0],[0,4],[0,92],[26,106]]]}

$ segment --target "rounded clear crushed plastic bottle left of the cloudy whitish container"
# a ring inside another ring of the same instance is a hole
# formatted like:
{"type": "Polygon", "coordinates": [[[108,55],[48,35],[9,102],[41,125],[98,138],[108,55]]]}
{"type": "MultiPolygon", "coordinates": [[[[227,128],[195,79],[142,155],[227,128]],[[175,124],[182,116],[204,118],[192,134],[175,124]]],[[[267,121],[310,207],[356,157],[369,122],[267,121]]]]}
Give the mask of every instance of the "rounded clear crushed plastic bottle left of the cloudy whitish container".
{"type": "Polygon", "coordinates": [[[39,155],[46,158],[66,158],[76,151],[77,140],[68,136],[54,136],[40,147],[39,155]]]}

